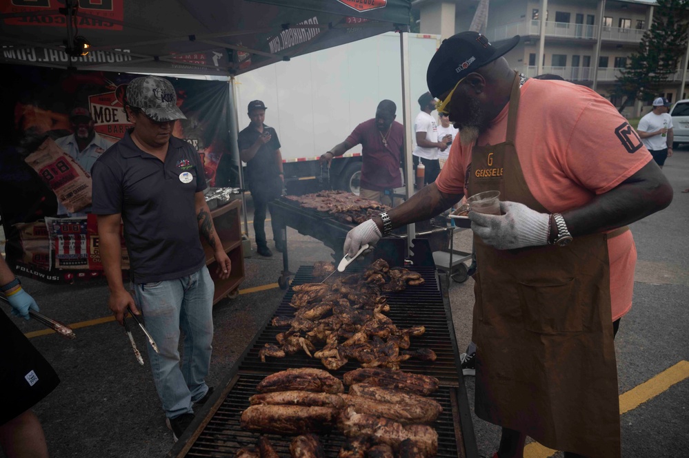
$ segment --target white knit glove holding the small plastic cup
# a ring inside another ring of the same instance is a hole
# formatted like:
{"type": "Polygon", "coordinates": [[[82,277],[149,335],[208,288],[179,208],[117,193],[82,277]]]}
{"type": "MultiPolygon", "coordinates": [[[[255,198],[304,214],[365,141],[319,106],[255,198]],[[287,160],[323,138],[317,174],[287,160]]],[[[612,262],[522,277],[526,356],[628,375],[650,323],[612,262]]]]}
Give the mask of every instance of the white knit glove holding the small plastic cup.
{"type": "Polygon", "coordinates": [[[550,215],[519,202],[500,202],[502,215],[469,212],[471,230],[492,247],[501,250],[548,244],[550,215]]]}

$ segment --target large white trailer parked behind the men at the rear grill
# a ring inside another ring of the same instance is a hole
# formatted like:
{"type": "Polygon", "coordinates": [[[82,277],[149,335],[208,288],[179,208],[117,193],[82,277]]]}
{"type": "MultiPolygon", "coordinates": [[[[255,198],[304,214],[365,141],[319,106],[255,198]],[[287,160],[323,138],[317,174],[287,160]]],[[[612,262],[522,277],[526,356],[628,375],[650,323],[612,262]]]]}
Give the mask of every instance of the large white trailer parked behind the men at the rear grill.
{"type": "MultiPolygon", "coordinates": [[[[409,34],[408,38],[413,123],[419,110],[417,98],[428,91],[426,68],[440,37],[409,34]]],[[[321,154],[373,118],[381,100],[397,104],[397,121],[402,123],[400,68],[399,34],[387,32],[241,74],[235,80],[239,129],[249,124],[248,103],[263,101],[268,107],[266,125],[274,127],[282,145],[288,187],[297,180],[317,180],[321,154]]],[[[361,145],[357,145],[333,160],[330,185],[359,194],[360,175],[361,145]]]]}

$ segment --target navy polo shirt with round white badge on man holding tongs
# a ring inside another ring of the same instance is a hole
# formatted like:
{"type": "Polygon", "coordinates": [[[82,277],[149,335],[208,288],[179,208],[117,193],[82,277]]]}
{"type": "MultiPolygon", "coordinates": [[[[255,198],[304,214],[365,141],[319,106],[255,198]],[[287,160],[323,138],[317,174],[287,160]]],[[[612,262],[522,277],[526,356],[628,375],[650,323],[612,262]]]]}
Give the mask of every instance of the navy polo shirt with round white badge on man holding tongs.
{"type": "Polygon", "coordinates": [[[206,264],[195,207],[206,178],[189,143],[170,137],[163,163],[126,132],[98,158],[91,175],[92,213],[122,214],[134,283],[181,278],[206,264]]]}

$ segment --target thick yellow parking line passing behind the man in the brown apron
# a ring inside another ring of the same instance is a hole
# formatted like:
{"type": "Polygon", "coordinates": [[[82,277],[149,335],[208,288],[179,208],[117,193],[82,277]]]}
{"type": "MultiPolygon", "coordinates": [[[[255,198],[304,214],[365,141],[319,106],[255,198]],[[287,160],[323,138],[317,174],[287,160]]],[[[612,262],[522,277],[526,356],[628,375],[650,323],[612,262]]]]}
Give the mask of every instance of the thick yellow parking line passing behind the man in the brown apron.
{"type": "MultiPolygon", "coordinates": [[[[689,378],[689,361],[680,361],[675,366],[667,368],[655,377],[635,386],[630,391],[619,396],[619,413],[627,413],[650,401],[657,395],[667,391],[672,385],[689,378]]],[[[555,454],[555,450],[532,442],[524,447],[524,458],[548,458],[555,454]]]]}

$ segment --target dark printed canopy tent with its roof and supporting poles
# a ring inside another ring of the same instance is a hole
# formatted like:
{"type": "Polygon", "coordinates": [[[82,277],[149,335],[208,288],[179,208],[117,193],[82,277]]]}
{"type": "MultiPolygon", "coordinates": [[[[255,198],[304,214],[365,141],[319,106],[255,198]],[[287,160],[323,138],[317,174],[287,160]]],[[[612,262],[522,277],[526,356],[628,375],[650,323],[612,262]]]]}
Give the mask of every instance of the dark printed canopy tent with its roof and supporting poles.
{"type": "MultiPolygon", "coordinates": [[[[410,10],[410,0],[0,0],[0,62],[232,77],[383,32],[408,32],[410,10]],[[81,56],[85,42],[89,52],[81,56]]],[[[406,35],[400,44],[410,196],[406,35]]],[[[246,213],[244,221],[246,227],[246,213]]],[[[412,240],[413,225],[408,234],[412,240]]]]}

